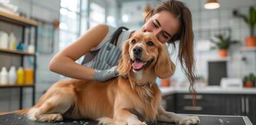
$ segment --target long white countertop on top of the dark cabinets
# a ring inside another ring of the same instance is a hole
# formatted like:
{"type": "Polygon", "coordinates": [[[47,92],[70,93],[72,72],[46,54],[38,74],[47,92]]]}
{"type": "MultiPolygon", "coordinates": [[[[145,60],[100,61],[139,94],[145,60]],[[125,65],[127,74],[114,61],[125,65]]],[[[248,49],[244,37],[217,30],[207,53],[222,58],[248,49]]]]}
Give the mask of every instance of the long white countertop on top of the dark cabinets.
{"type": "MultiPolygon", "coordinates": [[[[190,93],[188,88],[160,88],[161,94],[166,96],[175,93],[190,93]]],[[[256,88],[221,88],[220,86],[207,86],[196,88],[198,94],[256,94],[256,88]]]]}

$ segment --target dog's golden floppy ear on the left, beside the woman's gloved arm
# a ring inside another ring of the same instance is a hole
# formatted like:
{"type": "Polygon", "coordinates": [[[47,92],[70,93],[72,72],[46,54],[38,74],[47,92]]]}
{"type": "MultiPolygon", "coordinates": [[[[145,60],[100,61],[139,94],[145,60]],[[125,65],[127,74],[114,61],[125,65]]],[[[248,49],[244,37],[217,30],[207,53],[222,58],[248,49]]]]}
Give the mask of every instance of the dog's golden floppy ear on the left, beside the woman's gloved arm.
{"type": "Polygon", "coordinates": [[[131,70],[131,61],[130,61],[130,54],[129,54],[129,41],[125,41],[125,44],[123,46],[123,52],[122,52],[122,58],[119,61],[118,64],[118,71],[122,75],[126,75],[131,70]]]}

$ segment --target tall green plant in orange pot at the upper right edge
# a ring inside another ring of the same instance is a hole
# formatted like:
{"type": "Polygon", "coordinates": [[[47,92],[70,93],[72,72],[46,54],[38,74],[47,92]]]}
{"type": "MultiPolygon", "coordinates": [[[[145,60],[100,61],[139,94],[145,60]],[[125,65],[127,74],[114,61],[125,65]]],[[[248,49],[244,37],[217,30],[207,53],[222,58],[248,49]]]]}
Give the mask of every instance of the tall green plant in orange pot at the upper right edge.
{"type": "Polygon", "coordinates": [[[250,27],[250,36],[245,37],[245,46],[247,47],[255,47],[256,46],[256,36],[254,35],[254,27],[256,24],[256,11],[253,6],[250,6],[249,9],[249,16],[246,16],[245,14],[240,14],[237,10],[233,11],[233,15],[235,17],[242,17],[243,21],[250,27]]]}

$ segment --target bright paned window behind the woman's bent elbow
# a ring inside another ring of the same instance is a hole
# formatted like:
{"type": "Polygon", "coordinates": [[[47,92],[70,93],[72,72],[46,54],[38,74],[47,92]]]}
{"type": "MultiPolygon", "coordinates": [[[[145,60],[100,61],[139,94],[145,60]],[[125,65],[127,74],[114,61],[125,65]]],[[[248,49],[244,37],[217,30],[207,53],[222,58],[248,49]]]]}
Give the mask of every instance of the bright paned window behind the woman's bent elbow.
{"type": "Polygon", "coordinates": [[[59,50],[78,39],[89,27],[105,23],[105,9],[88,0],[61,0],[59,13],[59,50]]]}

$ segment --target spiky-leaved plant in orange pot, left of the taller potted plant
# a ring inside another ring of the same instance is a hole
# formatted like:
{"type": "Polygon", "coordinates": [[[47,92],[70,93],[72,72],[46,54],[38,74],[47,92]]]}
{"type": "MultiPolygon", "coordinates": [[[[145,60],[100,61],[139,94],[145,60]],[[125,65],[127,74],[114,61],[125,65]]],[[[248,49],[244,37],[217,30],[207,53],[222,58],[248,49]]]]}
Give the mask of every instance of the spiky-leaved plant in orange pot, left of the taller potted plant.
{"type": "Polygon", "coordinates": [[[225,58],[228,56],[228,47],[230,46],[230,44],[238,43],[238,41],[232,41],[230,36],[224,37],[222,34],[218,34],[217,36],[215,36],[215,39],[210,39],[210,41],[215,44],[212,49],[218,48],[218,55],[221,58],[225,58]]]}

